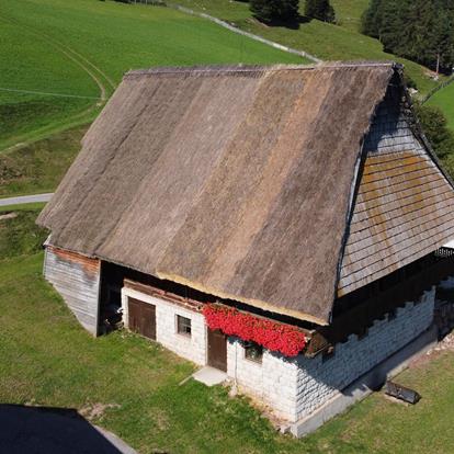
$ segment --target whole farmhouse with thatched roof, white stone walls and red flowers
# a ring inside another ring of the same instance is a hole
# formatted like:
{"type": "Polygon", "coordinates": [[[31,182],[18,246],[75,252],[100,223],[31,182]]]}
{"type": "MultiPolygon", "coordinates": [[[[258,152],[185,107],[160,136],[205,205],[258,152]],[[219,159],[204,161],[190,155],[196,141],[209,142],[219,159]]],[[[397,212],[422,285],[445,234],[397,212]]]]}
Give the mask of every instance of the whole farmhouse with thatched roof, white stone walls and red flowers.
{"type": "Polygon", "coordinates": [[[93,334],[122,317],[295,434],[433,339],[454,191],[399,66],[130,71],[82,145],[38,224],[93,334]]]}

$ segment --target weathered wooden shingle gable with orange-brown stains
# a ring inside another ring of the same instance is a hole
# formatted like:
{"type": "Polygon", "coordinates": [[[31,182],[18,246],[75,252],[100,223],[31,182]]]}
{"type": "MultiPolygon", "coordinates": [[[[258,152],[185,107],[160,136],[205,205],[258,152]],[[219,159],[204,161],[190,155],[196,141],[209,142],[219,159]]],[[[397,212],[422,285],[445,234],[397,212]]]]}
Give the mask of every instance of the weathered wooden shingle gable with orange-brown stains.
{"type": "Polygon", "coordinates": [[[342,261],[339,296],[454,238],[454,192],[417,138],[402,90],[389,87],[364,144],[365,163],[342,261]]]}

